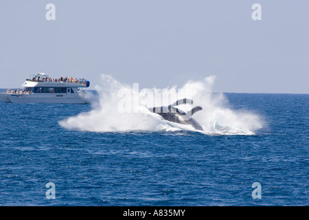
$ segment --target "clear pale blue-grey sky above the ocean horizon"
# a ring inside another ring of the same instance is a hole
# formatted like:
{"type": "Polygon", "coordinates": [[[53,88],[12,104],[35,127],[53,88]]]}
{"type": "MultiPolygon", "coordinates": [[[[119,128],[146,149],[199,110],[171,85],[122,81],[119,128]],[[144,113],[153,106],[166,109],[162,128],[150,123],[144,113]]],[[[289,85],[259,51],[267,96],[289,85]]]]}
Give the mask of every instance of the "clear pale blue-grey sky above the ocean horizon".
{"type": "Polygon", "coordinates": [[[309,93],[309,1],[0,1],[0,88],[100,74],[140,88],[216,76],[214,91],[309,93]],[[56,20],[47,21],[47,3],[56,20]],[[253,3],[262,20],[253,21],[253,3]]]}

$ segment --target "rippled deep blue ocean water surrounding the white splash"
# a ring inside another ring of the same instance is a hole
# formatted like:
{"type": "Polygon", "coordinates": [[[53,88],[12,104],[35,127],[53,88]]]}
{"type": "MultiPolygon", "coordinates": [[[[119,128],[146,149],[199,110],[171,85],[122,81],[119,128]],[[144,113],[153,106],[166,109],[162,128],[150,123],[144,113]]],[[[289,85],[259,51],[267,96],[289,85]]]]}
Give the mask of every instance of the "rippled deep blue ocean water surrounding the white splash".
{"type": "Polygon", "coordinates": [[[262,129],[74,131],[58,122],[91,105],[0,101],[0,206],[308,206],[309,95],[225,97],[262,129]]]}

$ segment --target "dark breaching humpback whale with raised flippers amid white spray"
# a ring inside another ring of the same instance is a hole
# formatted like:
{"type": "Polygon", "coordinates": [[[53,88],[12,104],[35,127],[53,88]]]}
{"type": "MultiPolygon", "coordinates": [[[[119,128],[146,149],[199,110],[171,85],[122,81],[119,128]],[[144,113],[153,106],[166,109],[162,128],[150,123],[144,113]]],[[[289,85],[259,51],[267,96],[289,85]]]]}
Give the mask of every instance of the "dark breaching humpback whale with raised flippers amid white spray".
{"type": "Polygon", "coordinates": [[[161,117],[164,120],[170,121],[170,122],[176,122],[179,124],[190,124],[194,127],[194,129],[199,131],[204,131],[202,126],[194,120],[191,116],[196,113],[197,111],[201,111],[203,108],[200,106],[194,107],[190,111],[184,112],[180,109],[177,109],[175,106],[180,104],[193,104],[193,100],[190,100],[188,98],[184,98],[181,100],[177,100],[173,104],[170,104],[167,107],[152,107],[148,108],[149,111],[153,113],[157,113],[158,115],[161,115],[161,117]]]}

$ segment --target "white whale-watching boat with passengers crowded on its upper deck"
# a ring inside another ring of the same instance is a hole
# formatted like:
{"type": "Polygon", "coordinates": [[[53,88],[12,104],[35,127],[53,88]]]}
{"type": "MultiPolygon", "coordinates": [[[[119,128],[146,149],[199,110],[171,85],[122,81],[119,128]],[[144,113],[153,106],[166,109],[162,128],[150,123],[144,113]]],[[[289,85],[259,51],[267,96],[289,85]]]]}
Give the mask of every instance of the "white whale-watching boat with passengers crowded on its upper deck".
{"type": "Polygon", "coordinates": [[[68,103],[90,104],[84,96],[82,88],[89,87],[87,80],[73,78],[49,78],[44,73],[36,74],[32,79],[26,79],[23,90],[10,90],[0,94],[3,102],[14,103],[68,103]]]}

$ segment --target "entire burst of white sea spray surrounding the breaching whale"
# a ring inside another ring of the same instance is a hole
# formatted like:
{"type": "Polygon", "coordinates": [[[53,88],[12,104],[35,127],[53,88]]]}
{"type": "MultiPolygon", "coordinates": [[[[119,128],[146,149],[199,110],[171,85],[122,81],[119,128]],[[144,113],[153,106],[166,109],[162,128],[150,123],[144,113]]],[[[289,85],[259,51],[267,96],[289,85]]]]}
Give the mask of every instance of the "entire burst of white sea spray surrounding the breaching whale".
{"type": "Polygon", "coordinates": [[[194,100],[192,105],[182,104],[179,109],[190,111],[201,106],[192,117],[203,126],[207,135],[253,135],[262,128],[258,115],[247,111],[236,111],[227,107],[223,94],[212,93],[214,76],[201,81],[188,81],[183,87],[165,89],[140,89],[138,84],[125,85],[111,76],[102,75],[98,91],[98,101],[93,109],[59,122],[66,129],[94,132],[152,132],[152,131],[196,131],[190,125],[168,122],[148,107],[172,104],[181,98],[194,100]]]}

